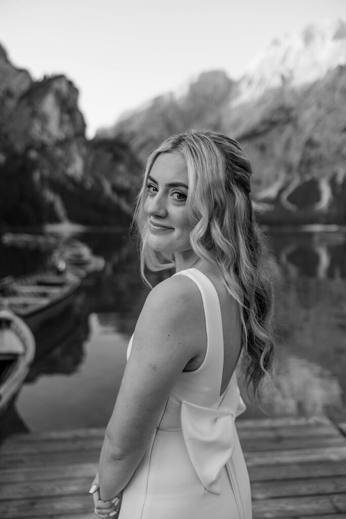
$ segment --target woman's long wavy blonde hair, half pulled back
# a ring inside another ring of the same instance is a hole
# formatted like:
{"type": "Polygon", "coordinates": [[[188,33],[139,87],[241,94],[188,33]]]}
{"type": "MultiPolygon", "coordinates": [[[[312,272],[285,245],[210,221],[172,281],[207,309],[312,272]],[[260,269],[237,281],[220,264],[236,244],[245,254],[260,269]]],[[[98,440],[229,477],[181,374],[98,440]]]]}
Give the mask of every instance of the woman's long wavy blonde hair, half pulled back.
{"type": "Polygon", "coordinates": [[[145,267],[158,271],[175,265],[173,254],[149,248],[144,212],[151,168],[161,153],[174,151],[187,164],[191,248],[213,264],[239,304],[244,376],[257,399],[273,360],[272,286],[264,262],[265,239],[250,199],[252,167],[237,141],[216,131],[189,130],[172,135],[149,156],[133,220],[141,241],[142,277],[149,284],[145,267]]]}

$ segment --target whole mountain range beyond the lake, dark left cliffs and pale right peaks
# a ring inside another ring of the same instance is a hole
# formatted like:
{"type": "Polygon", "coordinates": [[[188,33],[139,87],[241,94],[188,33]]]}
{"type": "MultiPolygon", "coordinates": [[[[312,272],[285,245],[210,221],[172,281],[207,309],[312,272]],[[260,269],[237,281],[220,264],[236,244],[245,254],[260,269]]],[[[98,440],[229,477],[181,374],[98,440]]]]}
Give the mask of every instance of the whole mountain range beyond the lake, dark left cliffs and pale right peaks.
{"type": "Polygon", "coordinates": [[[173,133],[209,128],[250,157],[262,223],[345,225],[346,23],[284,35],[256,60],[239,80],[203,72],[88,140],[72,81],[34,81],[0,46],[1,221],[129,222],[148,154],[173,133]]]}

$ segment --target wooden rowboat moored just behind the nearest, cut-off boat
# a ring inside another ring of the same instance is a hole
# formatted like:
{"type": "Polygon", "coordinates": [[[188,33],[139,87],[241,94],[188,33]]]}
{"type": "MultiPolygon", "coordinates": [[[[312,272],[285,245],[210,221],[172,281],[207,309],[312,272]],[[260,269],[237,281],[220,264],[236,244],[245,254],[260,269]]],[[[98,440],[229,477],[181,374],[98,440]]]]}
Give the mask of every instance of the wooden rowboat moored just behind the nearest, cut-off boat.
{"type": "Polygon", "coordinates": [[[24,319],[36,331],[49,319],[58,317],[72,303],[80,285],[73,272],[47,271],[0,282],[0,295],[6,299],[10,310],[24,319]]]}

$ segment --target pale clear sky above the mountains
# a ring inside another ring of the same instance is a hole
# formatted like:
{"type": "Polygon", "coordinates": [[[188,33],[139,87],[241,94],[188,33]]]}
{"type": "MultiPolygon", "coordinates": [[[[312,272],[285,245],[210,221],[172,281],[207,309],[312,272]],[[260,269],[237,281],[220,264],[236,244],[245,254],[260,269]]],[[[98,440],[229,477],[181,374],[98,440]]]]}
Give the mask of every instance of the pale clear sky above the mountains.
{"type": "Polygon", "coordinates": [[[237,79],[275,37],[337,18],[346,0],[0,0],[0,44],[33,79],[73,81],[91,138],[201,72],[237,79]]]}

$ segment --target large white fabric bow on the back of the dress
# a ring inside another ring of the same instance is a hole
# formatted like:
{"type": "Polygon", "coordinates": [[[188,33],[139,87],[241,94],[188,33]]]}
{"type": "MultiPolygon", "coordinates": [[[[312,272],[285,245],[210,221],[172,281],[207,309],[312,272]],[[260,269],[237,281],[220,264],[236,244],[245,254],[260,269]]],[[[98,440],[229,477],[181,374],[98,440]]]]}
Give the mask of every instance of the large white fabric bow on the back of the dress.
{"type": "Polygon", "coordinates": [[[234,420],[245,408],[235,376],[217,408],[182,402],[182,430],[189,457],[204,487],[214,494],[221,494],[220,472],[238,440],[234,420]]]}

